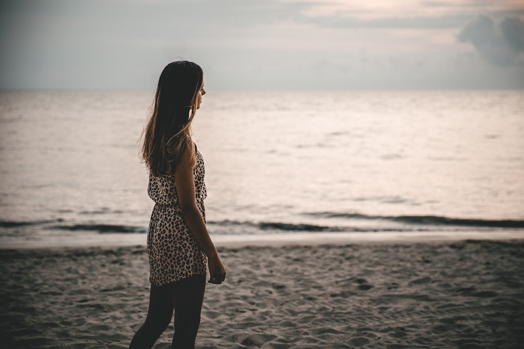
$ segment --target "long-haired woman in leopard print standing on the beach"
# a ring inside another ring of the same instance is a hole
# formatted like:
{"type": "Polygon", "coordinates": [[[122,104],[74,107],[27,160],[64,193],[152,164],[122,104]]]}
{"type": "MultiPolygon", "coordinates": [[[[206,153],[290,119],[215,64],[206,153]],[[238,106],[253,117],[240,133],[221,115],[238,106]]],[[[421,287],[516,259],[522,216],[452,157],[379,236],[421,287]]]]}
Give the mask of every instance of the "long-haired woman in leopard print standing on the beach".
{"type": "Polygon", "coordinates": [[[191,121],[205,95],[202,68],[178,61],[160,74],[155,105],[143,134],[151,213],[149,310],[129,348],[151,348],[174,310],[172,348],[194,348],[205,290],[221,284],[225,268],[205,226],[204,162],[191,139],[191,121]]]}

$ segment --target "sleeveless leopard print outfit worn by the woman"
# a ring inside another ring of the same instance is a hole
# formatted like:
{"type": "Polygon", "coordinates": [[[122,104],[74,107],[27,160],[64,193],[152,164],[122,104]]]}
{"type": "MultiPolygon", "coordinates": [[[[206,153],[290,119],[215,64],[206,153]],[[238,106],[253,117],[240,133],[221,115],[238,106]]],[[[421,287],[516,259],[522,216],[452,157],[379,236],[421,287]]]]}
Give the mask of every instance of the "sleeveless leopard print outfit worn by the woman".
{"type": "MultiPolygon", "coordinates": [[[[193,176],[196,206],[205,221],[204,199],[207,192],[204,159],[198,150],[193,176]]],[[[151,284],[162,286],[192,275],[206,274],[208,257],[200,249],[182,216],[174,175],[150,175],[147,193],[156,203],[147,234],[151,284]]]]}

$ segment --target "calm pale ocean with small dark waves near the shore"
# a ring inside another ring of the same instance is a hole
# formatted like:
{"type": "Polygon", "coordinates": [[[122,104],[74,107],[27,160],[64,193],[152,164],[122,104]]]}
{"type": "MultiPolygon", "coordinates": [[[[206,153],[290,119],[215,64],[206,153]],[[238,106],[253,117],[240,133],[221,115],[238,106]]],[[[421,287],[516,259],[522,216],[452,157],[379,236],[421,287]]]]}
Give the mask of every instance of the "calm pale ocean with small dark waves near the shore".
{"type": "MultiPolygon", "coordinates": [[[[145,244],[152,97],[0,92],[0,246],[145,244]]],[[[216,239],[524,237],[524,91],[208,91],[193,139],[216,239]]]]}

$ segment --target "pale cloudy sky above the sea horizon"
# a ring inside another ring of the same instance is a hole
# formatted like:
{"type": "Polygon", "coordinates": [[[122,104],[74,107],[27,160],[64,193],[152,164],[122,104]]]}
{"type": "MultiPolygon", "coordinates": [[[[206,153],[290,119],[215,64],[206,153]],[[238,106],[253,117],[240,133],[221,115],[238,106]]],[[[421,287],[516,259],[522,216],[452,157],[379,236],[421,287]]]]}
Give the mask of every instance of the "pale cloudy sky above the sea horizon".
{"type": "Polygon", "coordinates": [[[0,88],[522,89],[522,0],[4,0],[0,88]]]}

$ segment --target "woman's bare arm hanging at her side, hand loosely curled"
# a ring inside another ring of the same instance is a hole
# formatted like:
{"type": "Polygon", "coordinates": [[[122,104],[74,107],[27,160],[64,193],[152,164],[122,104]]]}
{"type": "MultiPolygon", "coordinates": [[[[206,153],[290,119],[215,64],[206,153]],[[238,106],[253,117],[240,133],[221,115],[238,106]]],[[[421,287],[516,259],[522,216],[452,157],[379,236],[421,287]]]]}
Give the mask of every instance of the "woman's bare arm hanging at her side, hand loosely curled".
{"type": "Polygon", "coordinates": [[[215,245],[209,236],[208,228],[205,226],[202,213],[196,206],[195,183],[191,159],[194,156],[194,145],[187,147],[182,153],[180,161],[174,171],[174,180],[177,186],[180,208],[189,230],[200,245],[200,248],[208,256],[210,279],[213,284],[221,284],[226,277],[226,271],[215,245]]]}

